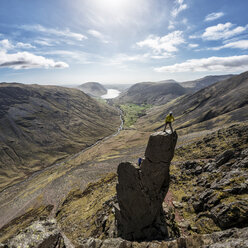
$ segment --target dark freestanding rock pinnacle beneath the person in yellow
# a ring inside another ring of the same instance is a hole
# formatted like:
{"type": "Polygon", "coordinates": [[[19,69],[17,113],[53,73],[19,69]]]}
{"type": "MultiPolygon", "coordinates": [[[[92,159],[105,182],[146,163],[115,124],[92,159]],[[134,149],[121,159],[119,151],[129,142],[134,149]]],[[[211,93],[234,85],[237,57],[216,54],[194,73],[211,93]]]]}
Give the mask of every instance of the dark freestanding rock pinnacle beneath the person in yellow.
{"type": "Polygon", "coordinates": [[[128,240],[164,239],[168,236],[162,203],[169,189],[169,167],[177,133],[150,136],[141,166],[118,166],[116,220],[118,235],[128,240]]]}

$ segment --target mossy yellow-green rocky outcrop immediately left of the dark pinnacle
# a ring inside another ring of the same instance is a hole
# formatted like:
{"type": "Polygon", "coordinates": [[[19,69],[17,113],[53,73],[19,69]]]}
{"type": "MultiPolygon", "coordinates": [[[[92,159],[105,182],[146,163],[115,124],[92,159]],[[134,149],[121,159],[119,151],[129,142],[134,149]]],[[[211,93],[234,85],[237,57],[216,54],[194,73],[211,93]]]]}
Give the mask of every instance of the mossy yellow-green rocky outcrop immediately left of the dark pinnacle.
{"type": "Polygon", "coordinates": [[[114,232],[113,197],[117,176],[110,173],[90,183],[82,192],[73,190],[57,212],[57,221],[66,236],[79,245],[82,238],[104,239],[114,232]]]}

